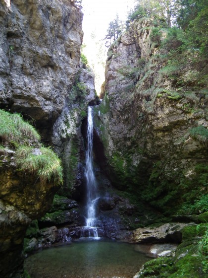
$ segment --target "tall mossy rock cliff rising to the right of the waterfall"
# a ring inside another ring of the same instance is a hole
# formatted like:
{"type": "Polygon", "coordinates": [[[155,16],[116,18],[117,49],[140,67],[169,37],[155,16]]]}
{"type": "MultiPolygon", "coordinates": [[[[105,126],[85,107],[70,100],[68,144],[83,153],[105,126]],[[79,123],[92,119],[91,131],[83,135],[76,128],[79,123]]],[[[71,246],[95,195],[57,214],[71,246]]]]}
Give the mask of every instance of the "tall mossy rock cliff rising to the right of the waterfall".
{"type": "Polygon", "coordinates": [[[207,98],[188,78],[200,70],[168,75],[152,29],[149,20],[134,23],[109,49],[95,117],[112,184],[155,213],[138,215],[145,225],[193,204],[207,183],[207,98]]]}

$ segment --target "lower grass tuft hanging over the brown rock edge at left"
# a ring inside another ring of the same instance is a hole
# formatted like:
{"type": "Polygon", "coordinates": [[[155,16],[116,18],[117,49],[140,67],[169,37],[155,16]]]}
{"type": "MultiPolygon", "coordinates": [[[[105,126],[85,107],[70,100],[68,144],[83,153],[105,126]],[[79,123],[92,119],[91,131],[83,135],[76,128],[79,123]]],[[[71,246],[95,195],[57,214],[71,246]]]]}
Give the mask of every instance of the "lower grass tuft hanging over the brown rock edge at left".
{"type": "Polygon", "coordinates": [[[16,150],[14,157],[21,170],[36,174],[42,183],[62,183],[61,162],[52,149],[21,146],[16,150]]]}

